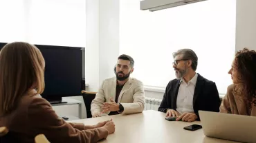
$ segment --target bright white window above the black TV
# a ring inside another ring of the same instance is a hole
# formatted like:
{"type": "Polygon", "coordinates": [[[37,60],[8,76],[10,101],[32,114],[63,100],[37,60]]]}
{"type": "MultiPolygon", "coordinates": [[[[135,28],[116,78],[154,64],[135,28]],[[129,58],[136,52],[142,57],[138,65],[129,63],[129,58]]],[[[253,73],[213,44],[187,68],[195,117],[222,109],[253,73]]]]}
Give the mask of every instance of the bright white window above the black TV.
{"type": "Polygon", "coordinates": [[[0,1],[0,41],[85,47],[84,0],[0,1]]]}

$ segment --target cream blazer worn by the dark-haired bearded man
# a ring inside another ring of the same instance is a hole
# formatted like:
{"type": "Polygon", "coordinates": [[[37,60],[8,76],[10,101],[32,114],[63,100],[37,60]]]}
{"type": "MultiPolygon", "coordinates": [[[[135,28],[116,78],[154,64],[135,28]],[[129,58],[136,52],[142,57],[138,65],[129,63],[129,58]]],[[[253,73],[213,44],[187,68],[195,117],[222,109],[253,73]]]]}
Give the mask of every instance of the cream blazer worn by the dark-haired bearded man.
{"type": "MultiPolygon", "coordinates": [[[[116,98],[116,77],[102,82],[95,99],[91,102],[91,114],[100,113],[104,102],[116,98]]],[[[136,78],[129,78],[118,97],[118,103],[124,107],[122,114],[140,113],[144,109],[145,93],[143,83],[136,78]]],[[[107,112],[109,114],[109,112],[107,112]]]]}

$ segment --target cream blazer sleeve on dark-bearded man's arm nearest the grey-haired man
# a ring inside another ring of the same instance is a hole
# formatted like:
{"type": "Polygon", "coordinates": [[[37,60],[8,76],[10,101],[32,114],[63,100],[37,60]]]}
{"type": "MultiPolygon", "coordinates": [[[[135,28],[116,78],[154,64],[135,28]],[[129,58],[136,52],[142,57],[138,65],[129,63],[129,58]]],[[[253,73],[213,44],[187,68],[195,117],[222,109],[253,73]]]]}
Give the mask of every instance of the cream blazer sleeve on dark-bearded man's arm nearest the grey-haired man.
{"type": "Polygon", "coordinates": [[[138,83],[134,89],[134,102],[133,103],[121,103],[124,107],[122,114],[140,113],[144,110],[145,105],[145,92],[143,83],[138,83]]]}

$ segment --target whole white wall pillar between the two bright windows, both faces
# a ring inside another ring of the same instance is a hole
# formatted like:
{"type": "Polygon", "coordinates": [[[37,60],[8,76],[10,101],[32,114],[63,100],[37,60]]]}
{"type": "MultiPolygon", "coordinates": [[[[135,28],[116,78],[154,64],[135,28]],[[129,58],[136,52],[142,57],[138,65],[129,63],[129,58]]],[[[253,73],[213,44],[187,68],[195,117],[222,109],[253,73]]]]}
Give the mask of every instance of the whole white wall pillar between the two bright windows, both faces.
{"type": "Polygon", "coordinates": [[[98,91],[102,80],[114,76],[119,54],[119,1],[86,0],[86,83],[98,91]]]}

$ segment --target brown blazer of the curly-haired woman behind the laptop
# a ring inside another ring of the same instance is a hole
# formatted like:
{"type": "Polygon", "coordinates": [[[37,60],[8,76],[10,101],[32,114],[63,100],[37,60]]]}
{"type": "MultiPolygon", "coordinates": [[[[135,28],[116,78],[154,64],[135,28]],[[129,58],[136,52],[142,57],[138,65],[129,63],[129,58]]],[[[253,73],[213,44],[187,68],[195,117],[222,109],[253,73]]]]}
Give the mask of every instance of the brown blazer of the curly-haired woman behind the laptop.
{"type": "Polygon", "coordinates": [[[230,85],[228,87],[227,94],[221,102],[221,107],[219,108],[219,111],[221,113],[256,116],[256,107],[252,105],[252,108],[249,109],[248,106],[246,106],[246,102],[241,98],[241,96],[235,95],[234,86],[235,85],[230,85]]]}

